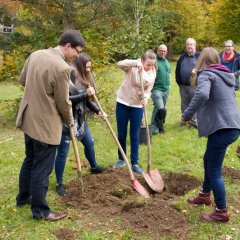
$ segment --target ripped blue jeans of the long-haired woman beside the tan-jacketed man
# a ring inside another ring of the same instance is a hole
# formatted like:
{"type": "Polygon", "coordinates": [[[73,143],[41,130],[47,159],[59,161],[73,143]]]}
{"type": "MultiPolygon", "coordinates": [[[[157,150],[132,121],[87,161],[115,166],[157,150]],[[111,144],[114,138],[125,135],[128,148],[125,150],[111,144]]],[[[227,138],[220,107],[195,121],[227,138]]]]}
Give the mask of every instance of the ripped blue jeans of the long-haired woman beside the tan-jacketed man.
{"type": "MultiPolygon", "coordinates": [[[[68,156],[69,146],[70,146],[70,133],[63,132],[60,145],[58,145],[57,156],[55,159],[55,174],[57,179],[57,184],[63,184],[63,173],[66,165],[66,160],[68,156]]],[[[91,168],[97,166],[95,151],[94,151],[94,140],[91,132],[86,126],[86,132],[82,139],[78,139],[84,146],[84,154],[90,163],[91,168]]]]}

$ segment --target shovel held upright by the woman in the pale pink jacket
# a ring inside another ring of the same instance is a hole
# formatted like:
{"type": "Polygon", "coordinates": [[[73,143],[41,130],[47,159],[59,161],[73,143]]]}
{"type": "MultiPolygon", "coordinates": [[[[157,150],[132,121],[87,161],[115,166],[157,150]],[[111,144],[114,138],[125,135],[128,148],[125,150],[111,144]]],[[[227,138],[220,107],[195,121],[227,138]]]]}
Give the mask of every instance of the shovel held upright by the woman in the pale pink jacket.
{"type": "MultiPolygon", "coordinates": [[[[141,81],[141,89],[142,96],[144,97],[144,88],[142,81],[142,74],[140,73],[140,81],[141,81]]],[[[164,188],[163,179],[157,169],[151,170],[151,142],[150,142],[150,134],[149,134],[149,126],[148,126],[148,117],[147,117],[147,109],[146,106],[143,107],[144,118],[146,124],[146,132],[147,132],[147,146],[148,146],[148,163],[147,163],[147,172],[143,173],[143,177],[148,183],[149,187],[155,192],[162,192],[164,188]]]]}

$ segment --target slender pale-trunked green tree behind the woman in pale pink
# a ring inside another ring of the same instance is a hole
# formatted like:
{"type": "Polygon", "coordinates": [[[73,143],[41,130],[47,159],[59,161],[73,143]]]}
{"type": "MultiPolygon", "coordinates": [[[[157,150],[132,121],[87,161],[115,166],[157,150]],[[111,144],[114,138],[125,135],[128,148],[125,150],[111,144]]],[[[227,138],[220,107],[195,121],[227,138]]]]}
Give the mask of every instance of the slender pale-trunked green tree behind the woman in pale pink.
{"type": "Polygon", "coordinates": [[[151,14],[150,0],[112,1],[115,9],[113,44],[115,58],[137,58],[147,49],[156,49],[163,38],[161,16],[151,14]]]}

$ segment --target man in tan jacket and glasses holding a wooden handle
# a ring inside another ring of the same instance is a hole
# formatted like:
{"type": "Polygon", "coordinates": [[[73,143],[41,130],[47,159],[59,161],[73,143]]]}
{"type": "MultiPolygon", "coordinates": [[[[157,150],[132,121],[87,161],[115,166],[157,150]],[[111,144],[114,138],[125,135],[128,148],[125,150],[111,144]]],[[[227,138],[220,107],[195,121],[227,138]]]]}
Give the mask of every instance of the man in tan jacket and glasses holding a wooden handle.
{"type": "Polygon", "coordinates": [[[20,74],[25,90],[16,125],[24,132],[26,158],[20,171],[16,201],[18,207],[31,202],[34,219],[57,221],[66,216],[53,213],[45,198],[60,144],[62,121],[73,123],[69,63],[84,46],[82,35],[69,30],[62,34],[57,47],[33,52],[20,74]]]}

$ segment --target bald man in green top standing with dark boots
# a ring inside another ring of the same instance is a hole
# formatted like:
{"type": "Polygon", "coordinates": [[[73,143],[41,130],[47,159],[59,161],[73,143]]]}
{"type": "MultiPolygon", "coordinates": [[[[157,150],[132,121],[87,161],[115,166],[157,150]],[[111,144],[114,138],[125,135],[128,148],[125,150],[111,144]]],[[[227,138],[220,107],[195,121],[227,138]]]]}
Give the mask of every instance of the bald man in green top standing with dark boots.
{"type": "Polygon", "coordinates": [[[152,134],[163,133],[163,124],[166,117],[166,103],[170,89],[171,65],[166,59],[167,46],[161,44],[157,49],[157,76],[152,89],[153,112],[152,134]]]}

